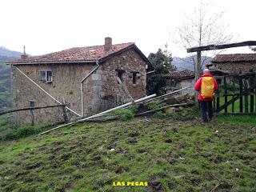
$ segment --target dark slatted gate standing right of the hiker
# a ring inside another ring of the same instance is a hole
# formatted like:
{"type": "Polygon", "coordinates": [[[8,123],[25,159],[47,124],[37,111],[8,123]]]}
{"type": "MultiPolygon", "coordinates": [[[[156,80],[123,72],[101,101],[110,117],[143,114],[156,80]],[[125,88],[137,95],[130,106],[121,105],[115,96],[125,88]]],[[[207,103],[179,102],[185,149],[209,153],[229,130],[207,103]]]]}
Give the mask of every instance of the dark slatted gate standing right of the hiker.
{"type": "Polygon", "coordinates": [[[256,114],[256,72],[217,76],[214,111],[225,114],[256,114]]]}

